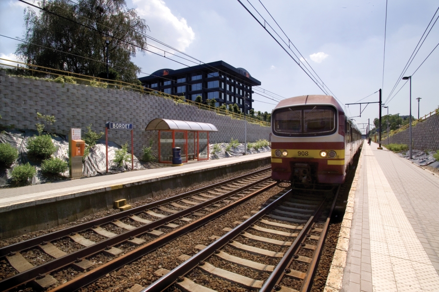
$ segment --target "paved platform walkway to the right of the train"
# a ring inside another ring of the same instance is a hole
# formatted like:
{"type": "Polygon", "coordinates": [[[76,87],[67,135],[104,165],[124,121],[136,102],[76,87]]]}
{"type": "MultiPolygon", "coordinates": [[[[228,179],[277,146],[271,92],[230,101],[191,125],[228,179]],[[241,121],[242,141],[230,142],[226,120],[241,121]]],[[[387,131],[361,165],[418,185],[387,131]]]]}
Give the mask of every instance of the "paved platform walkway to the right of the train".
{"type": "Polygon", "coordinates": [[[439,291],[439,177],[363,144],[345,292],[439,291]]]}

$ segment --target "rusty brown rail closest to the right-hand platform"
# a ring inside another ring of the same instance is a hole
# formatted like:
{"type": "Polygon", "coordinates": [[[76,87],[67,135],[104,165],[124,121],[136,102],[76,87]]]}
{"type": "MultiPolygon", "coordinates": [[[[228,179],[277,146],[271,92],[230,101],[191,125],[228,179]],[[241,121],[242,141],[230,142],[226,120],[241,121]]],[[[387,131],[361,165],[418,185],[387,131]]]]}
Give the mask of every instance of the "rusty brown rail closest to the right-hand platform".
{"type": "Polygon", "coordinates": [[[331,221],[332,211],[334,211],[334,207],[337,202],[337,197],[339,196],[339,190],[340,190],[340,186],[332,202],[332,206],[331,209],[329,210],[329,214],[328,217],[326,218],[325,224],[323,225],[319,241],[317,242],[316,251],[314,252],[314,256],[311,260],[311,263],[309,264],[305,279],[303,280],[302,287],[300,288],[301,292],[309,292],[312,288],[313,279],[317,272],[317,267],[319,265],[321,253],[323,252],[326,236],[328,235],[329,222],[331,221]]]}

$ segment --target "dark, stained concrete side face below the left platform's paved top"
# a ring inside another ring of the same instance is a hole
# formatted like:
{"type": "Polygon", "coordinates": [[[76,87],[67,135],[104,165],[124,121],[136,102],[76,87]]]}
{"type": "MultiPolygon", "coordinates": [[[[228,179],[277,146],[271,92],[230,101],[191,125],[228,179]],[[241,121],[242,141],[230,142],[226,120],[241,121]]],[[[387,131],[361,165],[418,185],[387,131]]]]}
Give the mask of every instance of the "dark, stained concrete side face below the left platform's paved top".
{"type": "Polygon", "coordinates": [[[116,200],[126,199],[128,203],[134,203],[176,188],[197,186],[202,182],[218,178],[227,179],[232,175],[240,175],[242,172],[261,166],[269,166],[270,163],[271,157],[259,158],[179,175],[148,179],[128,185],[113,186],[103,192],[64,195],[66,199],[52,200],[49,203],[31,207],[12,208],[10,211],[0,213],[0,239],[50,229],[89,214],[113,209],[113,203],[116,200]]]}

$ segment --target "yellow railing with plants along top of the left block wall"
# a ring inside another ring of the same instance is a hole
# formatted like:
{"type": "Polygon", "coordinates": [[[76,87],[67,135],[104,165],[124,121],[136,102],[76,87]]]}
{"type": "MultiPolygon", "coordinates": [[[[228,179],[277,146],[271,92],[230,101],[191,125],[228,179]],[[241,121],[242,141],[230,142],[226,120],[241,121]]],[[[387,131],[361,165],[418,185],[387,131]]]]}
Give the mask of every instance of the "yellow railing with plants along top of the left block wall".
{"type": "MultiPolygon", "coordinates": [[[[94,76],[83,75],[79,73],[72,73],[59,69],[47,68],[39,65],[27,64],[18,61],[12,61],[4,58],[0,60],[17,63],[17,66],[0,63],[0,68],[6,71],[8,75],[17,77],[33,78],[51,82],[70,83],[70,84],[82,84],[93,87],[121,89],[128,91],[136,91],[145,95],[155,95],[164,98],[173,99],[176,103],[186,103],[198,107],[199,109],[215,112],[217,115],[228,116],[232,119],[244,120],[244,114],[237,114],[229,110],[223,110],[219,107],[209,106],[204,103],[195,102],[193,100],[187,100],[182,96],[175,96],[159,92],[150,88],[144,88],[141,85],[127,83],[119,80],[110,80],[105,78],[99,78],[94,76]],[[19,67],[19,64],[26,67],[19,67]]],[[[249,117],[247,115],[247,121],[249,123],[259,124],[260,126],[270,127],[271,123],[259,120],[257,118],[249,117]]]]}

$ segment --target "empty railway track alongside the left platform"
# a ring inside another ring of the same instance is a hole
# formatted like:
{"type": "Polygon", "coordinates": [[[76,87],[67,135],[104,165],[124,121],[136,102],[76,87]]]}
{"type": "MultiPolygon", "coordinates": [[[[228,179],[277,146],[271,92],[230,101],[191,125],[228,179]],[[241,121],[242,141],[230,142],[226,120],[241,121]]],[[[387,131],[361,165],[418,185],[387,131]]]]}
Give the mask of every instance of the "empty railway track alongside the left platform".
{"type": "Polygon", "coordinates": [[[55,291],[77,290],[274,186],[270,173],[263,169],[0,248],[0,260],[6,259],[12,271],[0,280],[0,290],[30,281],[39,289],[49,288],[57,282],[51,273],[72,268],[79,276],[55,291]],[[34,266],[28,253],[43,261],[34,266]],[[87,259],[96,254],[105,257],[99,267],[87,259]]]}

